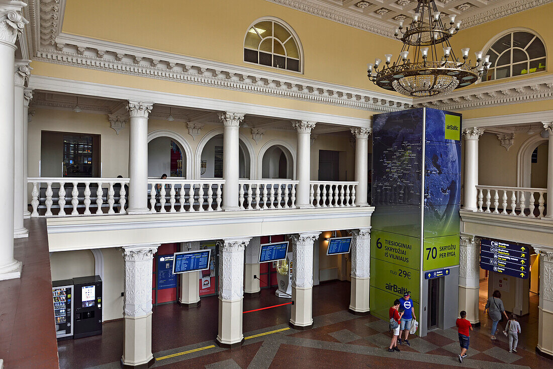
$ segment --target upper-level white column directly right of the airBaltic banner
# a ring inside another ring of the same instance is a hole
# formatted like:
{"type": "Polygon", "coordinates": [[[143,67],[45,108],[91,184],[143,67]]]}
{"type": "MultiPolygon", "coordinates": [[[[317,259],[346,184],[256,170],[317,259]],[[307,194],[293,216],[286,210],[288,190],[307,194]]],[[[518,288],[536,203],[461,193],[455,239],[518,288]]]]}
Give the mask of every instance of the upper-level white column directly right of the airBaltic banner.
{"type": "Polygon", "coordinates": [[[463,184],[463,209],[476,211],[478,193],[478,138],[484,131],[480,128],[467,128],[463,130],[465,137],[465,176],[463,184]]]}

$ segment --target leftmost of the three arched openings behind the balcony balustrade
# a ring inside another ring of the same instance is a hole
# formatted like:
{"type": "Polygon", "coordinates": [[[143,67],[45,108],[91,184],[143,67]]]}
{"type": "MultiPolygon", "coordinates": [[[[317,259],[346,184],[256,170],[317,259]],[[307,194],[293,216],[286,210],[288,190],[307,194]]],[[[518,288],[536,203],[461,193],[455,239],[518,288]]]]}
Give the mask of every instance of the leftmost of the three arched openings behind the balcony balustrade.
{"type": "Polygon", "coordinates": [[[186,152],[170,137],[156,137],[148,142],[148,176],[186,177],[186,152]]]}

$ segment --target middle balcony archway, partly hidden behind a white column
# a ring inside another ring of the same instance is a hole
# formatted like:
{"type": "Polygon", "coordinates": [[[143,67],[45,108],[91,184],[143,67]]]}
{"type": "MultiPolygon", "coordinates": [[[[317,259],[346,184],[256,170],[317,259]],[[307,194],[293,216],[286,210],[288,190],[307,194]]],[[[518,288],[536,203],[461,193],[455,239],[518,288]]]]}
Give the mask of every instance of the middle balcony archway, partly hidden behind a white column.
{"type": "MultiPolygon", "coordinates": [[[[217,134],[202,148],[200,158],[200,178],[223,178],[223,135],[217,134]]],[[[249,150],[240,139],[238,143],[239,178],[249,179],[251,158],[249,150]]]]}

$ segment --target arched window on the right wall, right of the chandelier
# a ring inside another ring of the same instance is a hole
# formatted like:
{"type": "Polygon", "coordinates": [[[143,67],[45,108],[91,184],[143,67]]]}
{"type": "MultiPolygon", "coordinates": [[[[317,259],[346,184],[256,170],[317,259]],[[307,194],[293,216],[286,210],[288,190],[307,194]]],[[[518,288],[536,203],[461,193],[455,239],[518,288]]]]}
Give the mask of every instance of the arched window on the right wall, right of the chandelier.
{"type": "Polygon", "coordinates": [[[545,70],[545,46],[530,32],[516,30],[500,37],[486,51],[492,63],[483,81],[525,75],[545,70]]]}

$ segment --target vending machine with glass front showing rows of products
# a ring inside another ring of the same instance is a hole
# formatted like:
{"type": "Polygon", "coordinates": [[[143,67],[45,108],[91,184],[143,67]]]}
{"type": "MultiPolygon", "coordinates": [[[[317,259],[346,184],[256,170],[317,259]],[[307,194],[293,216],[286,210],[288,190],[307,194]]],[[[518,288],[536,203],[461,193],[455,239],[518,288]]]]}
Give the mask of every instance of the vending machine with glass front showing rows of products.
{"type": "Polygon", "coordinates": [[[54,300],[54,323],[58,340],[70,339],[73,336],[73,281],[71,279],[52,282],[52,298],[54,300]]]}

